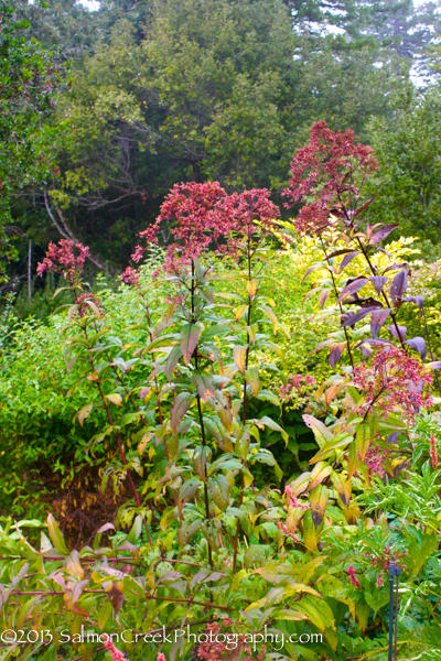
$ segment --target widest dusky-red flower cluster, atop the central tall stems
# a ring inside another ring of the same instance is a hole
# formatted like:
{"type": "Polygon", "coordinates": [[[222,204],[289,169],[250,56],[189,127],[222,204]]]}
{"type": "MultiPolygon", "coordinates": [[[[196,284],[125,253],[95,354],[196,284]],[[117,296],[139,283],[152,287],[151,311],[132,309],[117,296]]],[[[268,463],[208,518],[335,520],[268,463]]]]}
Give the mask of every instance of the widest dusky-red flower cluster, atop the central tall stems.
{"type": "MultiPolygon", "coordinates": [[[[157,221],[140,236],[148,243],[158,241],[164,223],[171,223],[174,242],[168,248],[166,267],[175,270],[182,260],[195,259],[208,247],[230,251],[240,240],[249,240],[257,231],[258,221],[263,231],[269,231],[279,209],[269,199],[269,191],[254,188],[241,194],[227,195],[218,182],[175,184],[161,206],[157,221]],[[218,242],[223,242],[223,246],[218,242]]],[[[139,262],[147,248],[138,246],[132,259],[139,262]]]]}

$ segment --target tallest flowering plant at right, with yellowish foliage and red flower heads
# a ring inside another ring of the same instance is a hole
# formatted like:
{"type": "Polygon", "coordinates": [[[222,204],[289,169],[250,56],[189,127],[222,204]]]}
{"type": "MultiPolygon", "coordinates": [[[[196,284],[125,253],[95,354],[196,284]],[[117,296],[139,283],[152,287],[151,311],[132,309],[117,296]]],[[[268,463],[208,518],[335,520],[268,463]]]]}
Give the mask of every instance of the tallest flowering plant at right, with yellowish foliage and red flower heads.
{"type": "Polygon", "coordinates": [[[310,462],[311,472],[290,485],[295,497],[308,495],[311,506],[309,511],[298,509],[293,513],[290,530],[295,533],[303,521],[310,530],[311,548],[319,543],[333,498],[349,523],[359,518],[352,496],[354,476],[369,484],[374,473],[385,475],[385,466],[392,474],[405,465],[408,456],[396,445],[397,436],[404,434],[409,443],[416,415],[431,404],[424,389],[432,383],[430,367],[437,364],[423,365],[424,339],[408,339],[407,328],[398,322],[400,307],[412,302],[421,308],[422,297],[406,295],[410,278],[406,262],[389,262],[383,269],[376,266],[378,253],[388,254],[381,242],[397,227],[372,226],[366,218],[373,198],[364,198],[364,188],[377,170],[373,150],[356,144],[351,130],[334,132],[325,122],[318,122],[309,144],[294,155],[284,191],[288,207],[303,205],[294,220],[298,235],[319,238],[322,258],[305,277],[314,272],[325,275],[312,293],[320,293],[322,307],[333,296],[330,312],[334,310],[340,321],[340,329],[318,349],[329,347],[333,367],[346,349],[349,362],[319,392],[324,390],[325,403],[330,404],[344,391],[342,415],[334,416],[330,426],[303,415],[319,452],[310,462]]]}

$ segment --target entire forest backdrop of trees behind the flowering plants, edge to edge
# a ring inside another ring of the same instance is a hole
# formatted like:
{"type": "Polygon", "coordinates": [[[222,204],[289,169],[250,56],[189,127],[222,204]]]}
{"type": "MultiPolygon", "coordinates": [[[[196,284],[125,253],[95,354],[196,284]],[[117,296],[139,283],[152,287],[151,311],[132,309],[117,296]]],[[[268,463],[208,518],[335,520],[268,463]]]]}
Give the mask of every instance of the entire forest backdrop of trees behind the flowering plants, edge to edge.
{"type": "Polygon", "coordinates": [[[429,261],[440,256],[437,3],[103,0],[90,11],[18,0],[13,9],[26,47],[58,79],[32,108],[26,162],[11,170],[11,137],[0,133],[3,293],[28,288],[30,259],[41,286],[36,263],[62,237],[89,246],[94,268],[125,268],[176,182],[268,187],[281,205],[290,159],[321,119],[376,149],[372,214],[418,236],[429,261]]]}

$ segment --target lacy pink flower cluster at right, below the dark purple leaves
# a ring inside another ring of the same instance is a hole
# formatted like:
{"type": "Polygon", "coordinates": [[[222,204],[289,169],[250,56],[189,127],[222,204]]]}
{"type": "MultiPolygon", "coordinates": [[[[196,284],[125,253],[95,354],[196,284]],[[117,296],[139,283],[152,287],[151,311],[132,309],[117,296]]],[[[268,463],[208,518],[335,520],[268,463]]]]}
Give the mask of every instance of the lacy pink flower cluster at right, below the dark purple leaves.
{"type": "Polygon", "coordinates": [[[366,402],[361,413],[372,413],[374,409],[387,418],[389,412],[399,409],[407,422],[411,422],[419,408],[430,404],[423,395],[424,384],[430,384],[432,375],[424,373],[423,366],[408,356],[401,348],[379,347],[374,350],[370,366],[357,365],[353,382],[365,392],[366,402]]]}

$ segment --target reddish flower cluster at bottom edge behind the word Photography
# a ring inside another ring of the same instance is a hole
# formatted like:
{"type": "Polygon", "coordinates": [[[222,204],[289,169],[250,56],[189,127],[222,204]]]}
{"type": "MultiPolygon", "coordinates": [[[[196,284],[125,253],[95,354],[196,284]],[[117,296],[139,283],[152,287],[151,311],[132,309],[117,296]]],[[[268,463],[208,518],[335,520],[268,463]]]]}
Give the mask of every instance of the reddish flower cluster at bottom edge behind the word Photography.
{"type": "MultiPolygon", "coordinates": [[[[258,654],[252,651],[244,635],[235,636],[233,648],[228,644],[228,633],[223,632],[223,627],[232,627],[232,620],[226,618],[223,622],[214,622],[206,626],[205,642],[202,642],[197,649],[197,657],[206,661],[263,661],[267,648],[262,646],[262,651],[258,654]]],[[[232,640],[232,639],[230,639],[232,640]]]]}

